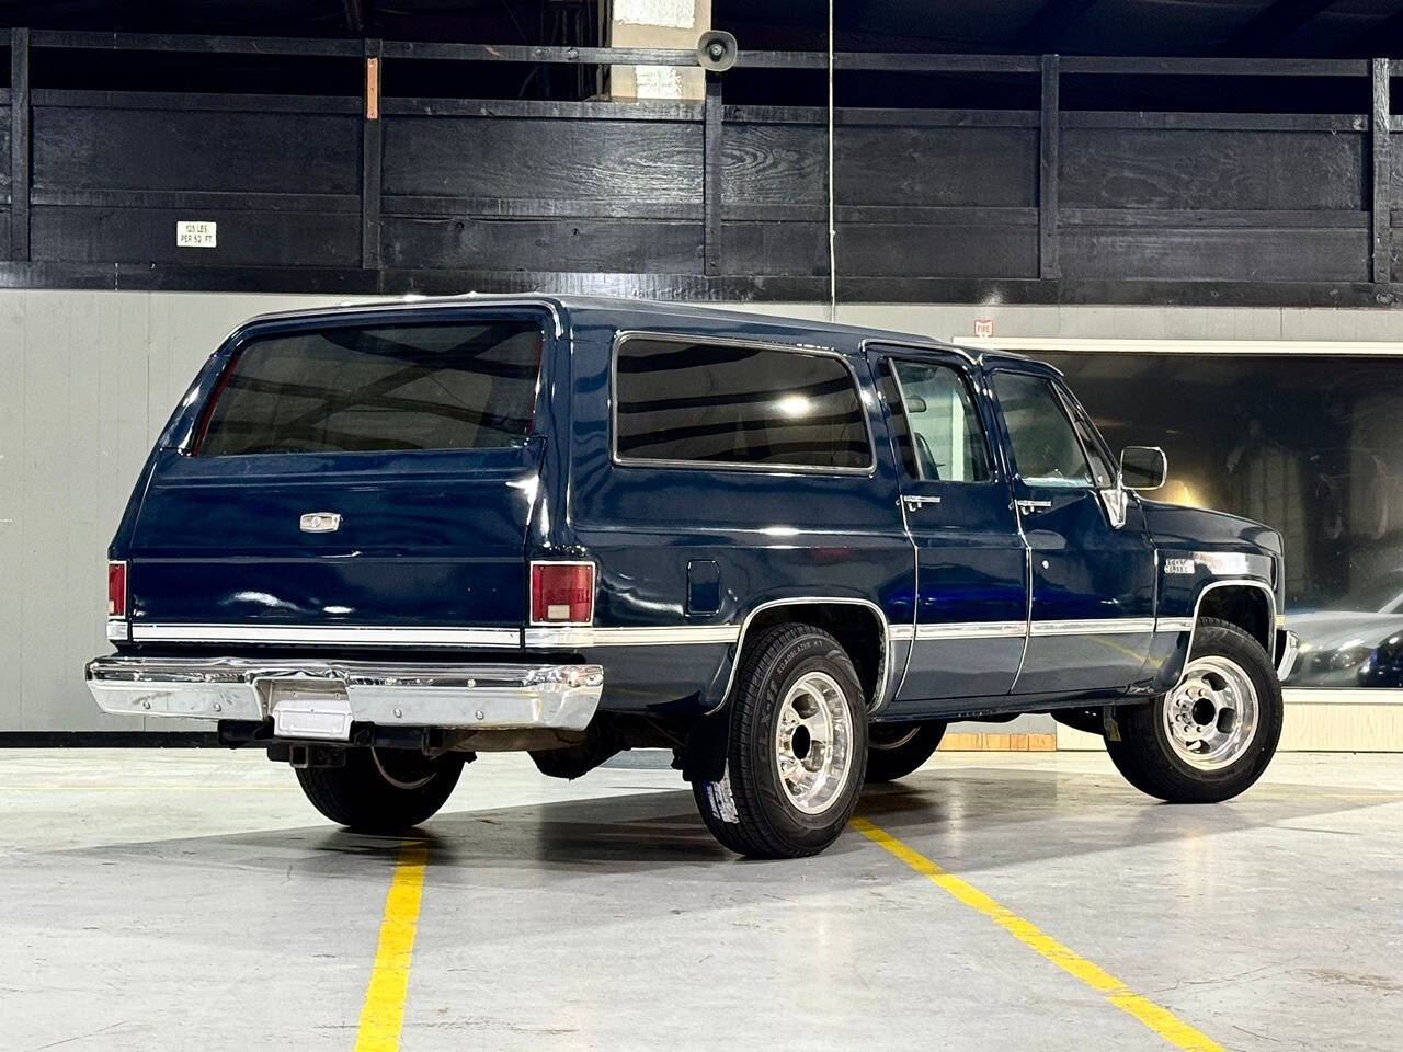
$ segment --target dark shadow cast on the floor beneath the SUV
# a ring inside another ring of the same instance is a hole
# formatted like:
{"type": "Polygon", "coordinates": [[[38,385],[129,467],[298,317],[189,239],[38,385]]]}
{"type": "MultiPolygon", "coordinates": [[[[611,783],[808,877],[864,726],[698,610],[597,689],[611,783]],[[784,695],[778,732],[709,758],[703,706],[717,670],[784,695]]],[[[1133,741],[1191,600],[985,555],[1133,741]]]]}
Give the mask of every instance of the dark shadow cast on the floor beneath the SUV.
{"type": "MultiPolygon", "coordinates": [[[[1125,847],[1228,835],[1302,818],[1324,816],[1403,800],[1403,793],[1333,787],[1257,785],[1218,805],[1174,807],[1141,795],[1115,776],[930,767],[899,783],[867,787],[859,814],[939,864],[975,872],[1125,847]]],[[[452,801],[450,801],[452,804],[452,801]]],[[[588,800],[536,802],[480,811],[443,811],[418,830],[429,864],[449,878],[470,872],[476,884],[512,882],[523,867],[551,874],[645,872],[666,867],[738,865],[760,877],[767,863],[748,863],[717,844],[686,788],[626,793],[588,800]]],[[[69,849],[104,860],[167,857],[198,865],[283,867],[288,853],[302,870],[347,875],[365,861],[391,865],[398,837],[349,833],[330,825],[265,829],[173,840],[69,849]]],[[[849,832],[818,861],[824,865],[868,850],[849,832]]],[[[737,871],[739,874],[739,871],[737,871]]]]}

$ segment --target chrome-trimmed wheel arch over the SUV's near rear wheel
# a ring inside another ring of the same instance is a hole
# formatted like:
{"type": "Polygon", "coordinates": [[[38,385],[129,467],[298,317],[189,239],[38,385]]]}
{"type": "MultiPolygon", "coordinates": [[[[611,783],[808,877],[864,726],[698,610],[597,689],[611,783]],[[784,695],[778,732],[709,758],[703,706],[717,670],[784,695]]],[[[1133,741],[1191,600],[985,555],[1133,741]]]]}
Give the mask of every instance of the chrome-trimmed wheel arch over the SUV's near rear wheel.
{"type": "Polygon", "coordinates": [[[748,640],[774,624],[812,624],[836,638],[857,672],[857,682],[867,693],[867,708],[873,710],[887,697],[891,686],[891,624],[887,614],[871,599],[856,596],[791,596],[767,599],[753,606],[741,621],[741,633],[731,656],[725,690],[711,713],[720,711],[731,700],[741,655],[748,640]],[[856,616],[854,616],[856,614],[856,616]]]}

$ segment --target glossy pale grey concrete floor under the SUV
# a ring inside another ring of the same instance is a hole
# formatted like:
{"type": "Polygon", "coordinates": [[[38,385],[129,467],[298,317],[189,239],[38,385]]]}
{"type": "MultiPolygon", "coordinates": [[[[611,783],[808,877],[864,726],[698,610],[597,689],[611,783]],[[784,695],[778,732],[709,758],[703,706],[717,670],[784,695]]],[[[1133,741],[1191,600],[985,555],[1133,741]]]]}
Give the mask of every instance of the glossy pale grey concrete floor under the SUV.
{"type": "MultiPolygon", "coordinates": [[[[1399,1049],[1403,756],[1156,805],[1100,753],[941,753],[861,812],[1230,1049],[1399,1049]]],[[[404,1049],[1162,1049],[864,836],[744,863],[672,771],[464,771],[404,1049]]],[[[396,842],[257,753],[0,752],[0,1048],[341,1049],[396,842]]]]}

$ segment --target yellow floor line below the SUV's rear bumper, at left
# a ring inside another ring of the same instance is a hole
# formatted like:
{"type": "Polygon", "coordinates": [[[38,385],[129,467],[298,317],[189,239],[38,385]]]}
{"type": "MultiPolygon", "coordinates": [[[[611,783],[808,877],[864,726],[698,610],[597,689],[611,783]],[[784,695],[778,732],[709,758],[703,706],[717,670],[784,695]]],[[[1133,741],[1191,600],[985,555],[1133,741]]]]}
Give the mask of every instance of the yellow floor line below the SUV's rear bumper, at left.
{"type": "Polygon", "coordinates": [[[410,957],[414,954],[414,924],[419,919],[424,867],[429,847],[424,840],[405,840],[384,896],[380,945],[375,951],[370,985],[361,1007],[355,1052],[397,1052],[404,1025],[404,994],[410,987],[410,957]]]}

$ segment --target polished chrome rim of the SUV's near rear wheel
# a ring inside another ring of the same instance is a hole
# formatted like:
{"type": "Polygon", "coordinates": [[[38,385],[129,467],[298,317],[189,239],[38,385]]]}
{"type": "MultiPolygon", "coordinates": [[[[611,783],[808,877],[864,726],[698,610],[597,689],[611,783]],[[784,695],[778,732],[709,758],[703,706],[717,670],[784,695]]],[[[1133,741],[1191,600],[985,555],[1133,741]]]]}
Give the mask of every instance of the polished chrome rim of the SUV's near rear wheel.
{"type": "Polygon", "coordinates": [[[847,697],[825,672],[808,672],[779,708],[774,762],[788,802],[819,815],[838,800],[853,770],[853,721],[847,697]]]}

